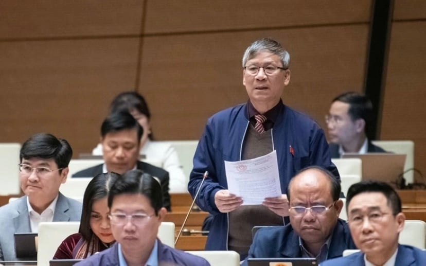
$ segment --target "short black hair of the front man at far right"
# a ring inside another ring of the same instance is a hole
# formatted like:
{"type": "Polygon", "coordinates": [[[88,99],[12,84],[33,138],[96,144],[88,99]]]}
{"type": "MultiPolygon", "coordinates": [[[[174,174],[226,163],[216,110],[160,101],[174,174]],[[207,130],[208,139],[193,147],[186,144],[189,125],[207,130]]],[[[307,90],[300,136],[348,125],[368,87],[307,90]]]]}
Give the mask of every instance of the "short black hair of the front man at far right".
{"type": "Polygon", "coordinates": [[[392,209],[394,216],[402,211],[401,199],[399,198],[395,189],[387,183],[371,180],[361,181],[349,187],[346,197],[346,211],[348,211],[348,206],[352,198],[365,192],[382,193],[387,200],[387,205],[390,207],[390,209],[392,209]]]}

